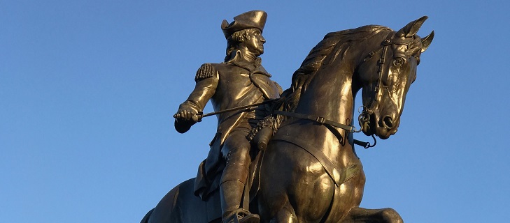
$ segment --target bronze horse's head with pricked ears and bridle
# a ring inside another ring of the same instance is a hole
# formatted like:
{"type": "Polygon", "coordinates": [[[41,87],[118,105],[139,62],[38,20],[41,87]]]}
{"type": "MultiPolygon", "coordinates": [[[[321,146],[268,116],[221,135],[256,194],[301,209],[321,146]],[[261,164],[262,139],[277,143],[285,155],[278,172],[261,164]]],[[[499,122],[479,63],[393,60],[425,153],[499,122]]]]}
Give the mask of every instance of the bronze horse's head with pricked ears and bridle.
{"type": "Polygon", "coordinates": [[[378,41],[374,51],[357,67],[364,108],[360,125],[364,134],[388,139],[397,132],[406,93],[416,79],[420,54],[434,38],[434,31],[425,38],[416,35],[425,20],[426,16],[421,17],[397,32],[391,31],[382,41],[374,40],[378,41]]]}

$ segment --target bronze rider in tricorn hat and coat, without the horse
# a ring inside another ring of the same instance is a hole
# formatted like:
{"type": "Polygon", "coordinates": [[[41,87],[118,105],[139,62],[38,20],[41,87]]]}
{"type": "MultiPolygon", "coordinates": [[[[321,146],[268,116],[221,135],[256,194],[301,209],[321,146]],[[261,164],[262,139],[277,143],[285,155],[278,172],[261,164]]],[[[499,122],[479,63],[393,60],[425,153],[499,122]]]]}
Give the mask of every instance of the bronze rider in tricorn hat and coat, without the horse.
{"type": "MultiPolygon", "coordinates": [[[[204,63],[194,78],[196,86],[174,115],[175,127],[186,132],[201,118],[208,100],[216,112],[244,105],[253,105],[279,98],[281,87],[271,81],[269,72],[258,56],[264,53],[262,30],[267,13],[253,10],[234,17],[234,22],[223,20],[221,29],[227,38],[227,56],[222,63],[204,63]]],[[[250,141],[246,136],[257,125],[267,110],[261,105],[253,110],[217,114],[218,129],[208,157],[199,168],[196,194],[204,195],[199,182],[222,169],[220,199],[223,222],[258,223],[260,217],[243,207],[243,192],[247,191],[250,166],[250,141]]],[[[203,198],[204,199],[204,198],[203,198]]]]}

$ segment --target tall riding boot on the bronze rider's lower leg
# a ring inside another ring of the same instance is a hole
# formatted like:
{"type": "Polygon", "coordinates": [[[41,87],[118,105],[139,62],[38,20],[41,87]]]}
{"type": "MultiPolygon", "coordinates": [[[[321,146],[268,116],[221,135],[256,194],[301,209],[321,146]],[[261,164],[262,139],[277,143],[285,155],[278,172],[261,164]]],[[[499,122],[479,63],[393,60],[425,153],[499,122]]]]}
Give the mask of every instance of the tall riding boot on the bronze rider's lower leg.
{"type": "Polygon", "coordinates": [[[220,185],[223,223],[259,223],[260,217],[241,208],[245,185],[239,180],[229,180],[220,185]]]}

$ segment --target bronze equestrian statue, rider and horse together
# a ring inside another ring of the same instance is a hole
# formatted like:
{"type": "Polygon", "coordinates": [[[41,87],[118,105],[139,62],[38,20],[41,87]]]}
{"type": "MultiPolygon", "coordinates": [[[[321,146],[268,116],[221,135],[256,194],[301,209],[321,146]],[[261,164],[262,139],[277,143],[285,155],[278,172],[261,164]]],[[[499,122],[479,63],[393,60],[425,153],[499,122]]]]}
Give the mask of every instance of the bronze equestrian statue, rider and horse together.
{"type": "Polygon", "coordinates": [[[327,33],[283,93],[258,58],[266,17],[256,10],[222,23],[225,61],[199,68],[174,115],[176,130],[186,132],[211,100],[218,116],[211,151],[197,178],[174,187],[142,222],[403,222],[392,208],[359,207],[365,177],[353,125],[357,119],[360,131],[381,139],[397,132],[420,54],[434,38],[416,34],[427,17],[398,31],[327,33]]]}

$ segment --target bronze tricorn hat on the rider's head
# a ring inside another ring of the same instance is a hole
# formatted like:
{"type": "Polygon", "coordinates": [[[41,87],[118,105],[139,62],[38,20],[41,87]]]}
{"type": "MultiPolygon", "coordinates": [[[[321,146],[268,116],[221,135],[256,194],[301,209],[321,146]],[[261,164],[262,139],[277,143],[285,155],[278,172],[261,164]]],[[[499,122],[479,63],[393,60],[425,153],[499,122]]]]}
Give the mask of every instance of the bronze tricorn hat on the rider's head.
{"type": "Polygon", "coordinates": [[[260,32],[262,32],[262,29],[264,29],[264,25],[266,24],[266,20],[266,12],[262,10],[253,10],[234,17],[234,22],[230,24],[227,20],[223,20],[221,23],[221,29],[223,30],[223,34],[225,34],[225,38],[229,38],[232,33],[243,29],[256,28],[260,29],[260,32]]]}

